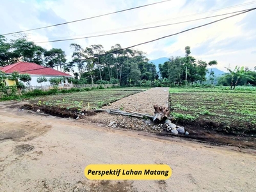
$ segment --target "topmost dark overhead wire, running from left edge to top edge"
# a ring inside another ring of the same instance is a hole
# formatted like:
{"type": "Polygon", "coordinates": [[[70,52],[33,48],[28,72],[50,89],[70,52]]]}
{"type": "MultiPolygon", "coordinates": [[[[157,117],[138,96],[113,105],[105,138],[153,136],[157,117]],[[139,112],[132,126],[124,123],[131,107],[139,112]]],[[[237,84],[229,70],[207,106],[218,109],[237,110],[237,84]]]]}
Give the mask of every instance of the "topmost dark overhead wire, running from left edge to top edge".
{"type": "Polygon", "coordinates": [[[97,17],[103,17],[103,16],[106,16],[106,15],[112,15],[112,14],[115,14],[115,13],[126,12],[126,11],[129,11],[129,10],[135,10],[135,9],[138,9],[138,8],[143,8],[145,6],[151,6],[153,4],[166,3],[168,1],[172,1],[172,0],[159,1],[157,3],[150,3],[150,4],[145,4],[145,5],[142,5],[142,6],[136,6],[134,8],[128,8],[128,9],[120,10],[120,11],[117,11],[117,12],[106,13],[106,14],[97,15],[97,16],[88,17],[88,18],[79,19],[79,20],[72,20],[72,21],[69,21],[69,22],[63,22],[63,23],[60,23],[60,24],[54,24],[54,25],[45,26],[45,27],[42,27],[42,28],[34,28],[34,29],[28,29],[28,30],[24,30],[24,31],[16,31],[16,32],[12,32],[12,33],[5,33],[5,34],[2,34],[2,35],[12,35],[12,34],[15,34],[15,33],[23,33],[23,32],[27,32],[27,31],[34,31],[34,30],[37,30],[37,29],[44,29],[44,28],[51,28],[51,27],[55,27],[55,26],[61,26],[61,25],[72,23],[72,22],[79,22],[79,21],[82,21],[82,20],[94,19],[94,18],[97,18],[97,17]]]}

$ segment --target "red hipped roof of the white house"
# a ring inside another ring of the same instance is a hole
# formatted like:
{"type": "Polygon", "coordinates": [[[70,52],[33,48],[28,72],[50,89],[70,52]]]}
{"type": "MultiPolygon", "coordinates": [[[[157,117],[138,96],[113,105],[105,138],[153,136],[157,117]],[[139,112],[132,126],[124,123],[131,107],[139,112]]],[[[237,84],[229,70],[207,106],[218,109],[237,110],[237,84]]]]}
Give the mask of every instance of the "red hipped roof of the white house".
{"type": "Polygon", "coordinates": [[[6,67],[0,68],[6,74],[19,72],[20,74],[42,75],[42,76],[70,76],[53,68],[44,68],[36,63],[18,62],[6,67]]]}

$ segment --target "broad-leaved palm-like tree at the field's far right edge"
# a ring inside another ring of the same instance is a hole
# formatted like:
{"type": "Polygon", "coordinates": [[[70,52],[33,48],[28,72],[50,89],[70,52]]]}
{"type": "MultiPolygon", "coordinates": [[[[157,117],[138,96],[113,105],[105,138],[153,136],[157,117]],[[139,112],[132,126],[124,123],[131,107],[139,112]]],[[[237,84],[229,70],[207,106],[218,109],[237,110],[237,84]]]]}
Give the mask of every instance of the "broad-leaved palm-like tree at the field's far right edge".
{"type": "MultiPolygon", "coordinates": [[[[225,67],[227,68],[227,67],[225,67]]],[[[248,74],[248,70],[244,69],[244,67],[237,67],[234,70],[231,70],[230,68],[227,68],[228,72],[227,74],[225,74],[226,77],[230,77],[231,78],[231,82],[230,82],[230,89],[235,89],[236,85],[239,81],[239,79],[241,79],[242,77],[244,79],[248,79],[248,80],[252,80],[253,81],[253,76],[250,76],[248,74]]]]}

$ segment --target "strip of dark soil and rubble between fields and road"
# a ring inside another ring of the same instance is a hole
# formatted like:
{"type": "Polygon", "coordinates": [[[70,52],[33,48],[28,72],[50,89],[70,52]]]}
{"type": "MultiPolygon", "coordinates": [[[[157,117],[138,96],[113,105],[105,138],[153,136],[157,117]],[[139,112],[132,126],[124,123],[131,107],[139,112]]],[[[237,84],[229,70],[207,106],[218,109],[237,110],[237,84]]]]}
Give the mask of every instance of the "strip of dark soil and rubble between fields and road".
{"type": "MultiPolygon", "coordinates": [[[[228,145],[239,148],[256,148],[256,138],[250,136],[234,136],[234,134],[223,134],[209,128],[186,125],[185,130],[189,134],[175,134],[172,130],[164,128],[164,124],[154,124],[152,120],[136,118],[124,115],[111,115],[106,112],[79,111],[76,108],[60,108],[58,106],[37,106],[25,104],[21,109],[28,109],[35,113],[44,113],[61,118],[73,118],[84,123],[101,124],[104,127],[115,129],[130,129],[136,131],[150,132],[155,136],[178,137],[193,140],[210,145],[228,145]]],[[[178,124],[177,124],[178,125],[178,124]]],[[[179,127],[179,125],[177,126],[179,127]]]]}

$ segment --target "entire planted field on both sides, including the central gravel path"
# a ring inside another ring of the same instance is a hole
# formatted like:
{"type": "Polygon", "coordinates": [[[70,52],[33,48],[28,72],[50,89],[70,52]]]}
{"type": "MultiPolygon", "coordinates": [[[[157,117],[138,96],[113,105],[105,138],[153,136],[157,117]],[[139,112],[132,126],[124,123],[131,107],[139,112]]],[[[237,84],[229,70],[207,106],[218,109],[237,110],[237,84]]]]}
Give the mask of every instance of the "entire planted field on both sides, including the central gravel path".
{"type": "Polygon", "coordinates": [[[254,90],[225,88],[111,88],[36,97],[21,108],[80,119],[86,124],[93,122],[108,127],[115,122],[114,127],[123,129],[177,136],[213,145],[256,148],[255,93],[254,90]],[[189,135],[173,135],[160,124],[146,124],[144,119],[86,111],[121,109],[154,115],[154,104],[165,106],[168,102],[172,122],[184,126],[189,135]]]}

